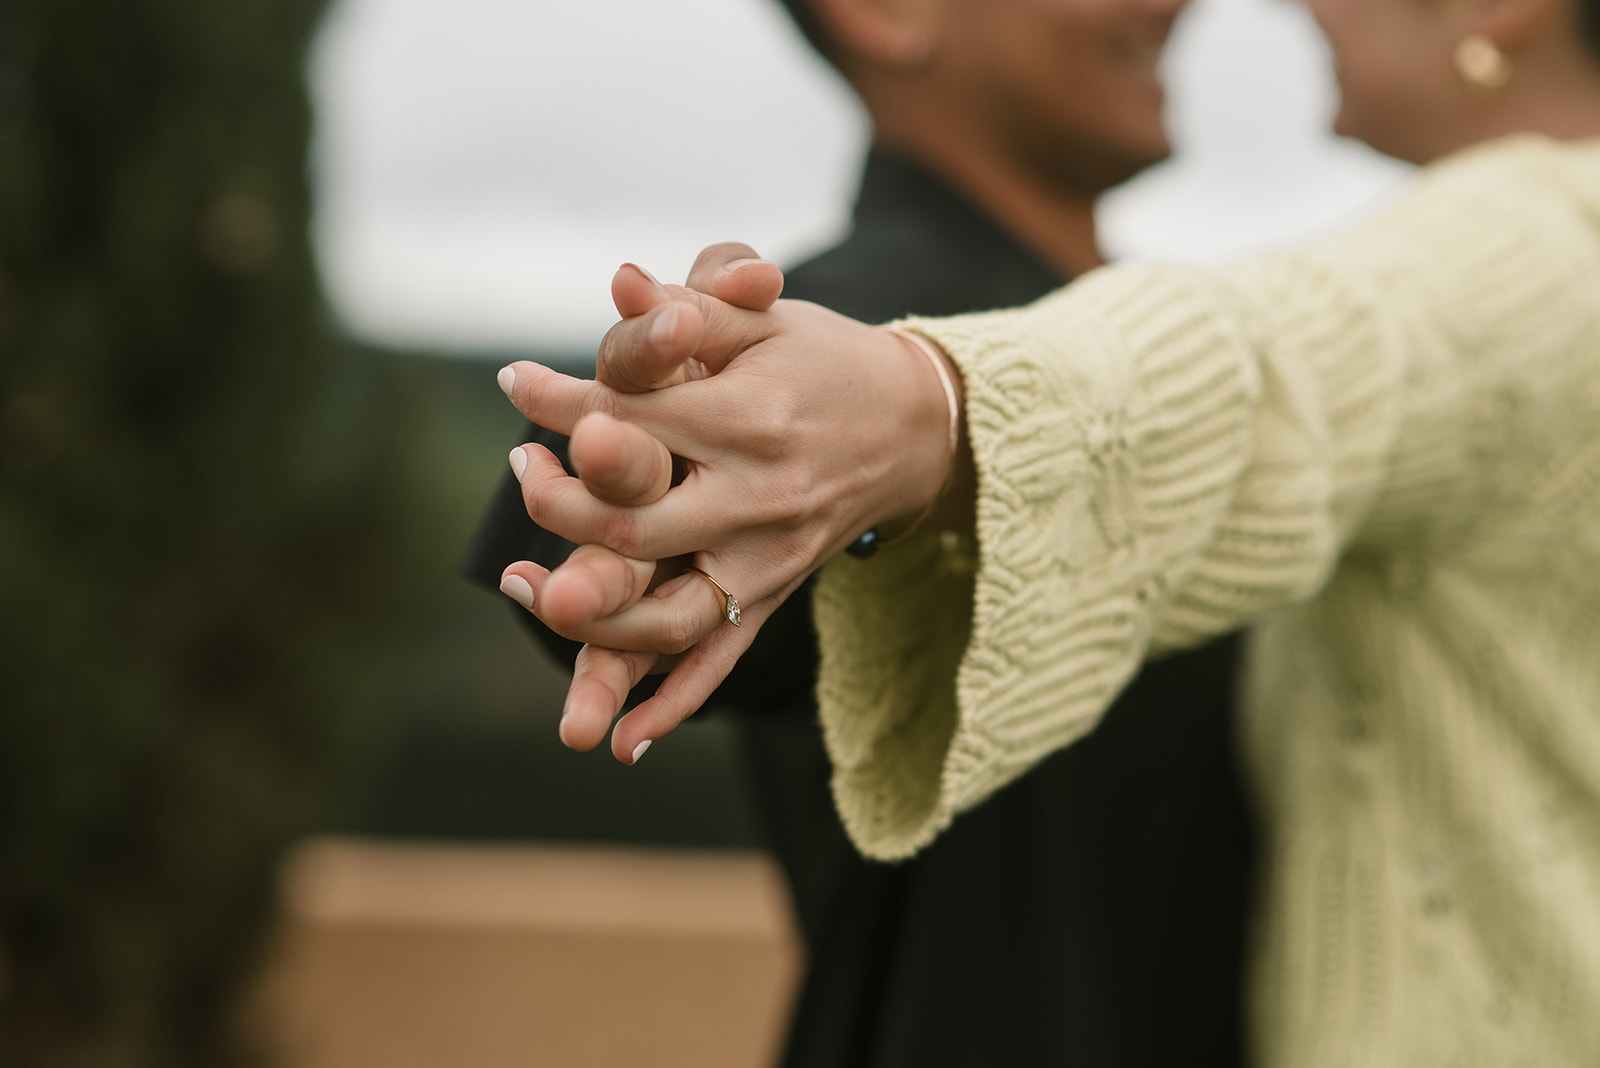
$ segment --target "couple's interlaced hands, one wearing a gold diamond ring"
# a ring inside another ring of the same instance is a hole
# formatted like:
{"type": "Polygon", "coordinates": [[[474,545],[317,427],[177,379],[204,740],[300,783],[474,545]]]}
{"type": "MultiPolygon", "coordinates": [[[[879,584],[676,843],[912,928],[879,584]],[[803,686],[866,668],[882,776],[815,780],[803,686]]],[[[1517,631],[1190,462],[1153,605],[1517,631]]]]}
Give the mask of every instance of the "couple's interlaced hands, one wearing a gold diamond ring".
{"type": "MultiPolygon", "coordinates": [[[[685,654],[656,697],[618,721],[611,748],[624,763],[706,700],[819,563],[869,526],[918,515],[944,480],[949,441],[938,376],[894,334],[798,302],[752,312],[677,291],[670,304],[680,307],[654,304],[619,323],[600,361],[630,368],[619,373],[626,381],[662,382],[670,374],[659,369],[683,360],[693,339],[699,377],[677,379],[675,389],[624,393],[531,363],[512,365],[502,379],[523,414],[571,433],[574,446],[584,438],[616,446],[613,465],[627,478],[648,472],[632,483],[646,484],[643,492],[592,492],[547,451],[525,446],[530,515],[584,550],[555,572],[507,569],[526,580],[530,608],[547,625],[589,643],[563,708],[562,737],[574,748],[605,737],[658,656],[685,654]],[[688,473],[656,497],[651,456],[664,449],[685,457],[688,473]],[[717,548],[696,553],[706,545],[717,548]],[[741,598],[744,627],[723,624],[722,601],[699,576],[650,588],[653,574],[637,563],[688,553],[741,598]],[[568,582],[582,584],[586,598],[552,604],[552,588],[568,582]]],[[[970,504],[970,489],[965,496],[970,504]]]]}

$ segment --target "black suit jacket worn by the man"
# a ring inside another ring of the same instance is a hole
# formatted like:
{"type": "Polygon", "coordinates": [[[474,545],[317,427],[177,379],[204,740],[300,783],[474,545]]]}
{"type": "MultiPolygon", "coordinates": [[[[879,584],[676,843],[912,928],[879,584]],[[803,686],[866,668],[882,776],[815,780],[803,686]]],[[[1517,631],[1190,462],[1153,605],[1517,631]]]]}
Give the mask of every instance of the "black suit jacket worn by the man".
{"type": "MultiPolygon", "coordinates": [[[[1061,283],[938,179],[874,152],[854,232],[784,294],[883,321],[1061,283]]],[[[563,553],[507,483],[469,571],[494,585],[514,560],[563,553]]],[[[862,860],[840,828],[814,659],[798,593],[715,699],[738,713],[810,956],[789,1068],[1242,1063],[1235,640],[1147,665],[1093,734],[898,865],[862,860]]]]}

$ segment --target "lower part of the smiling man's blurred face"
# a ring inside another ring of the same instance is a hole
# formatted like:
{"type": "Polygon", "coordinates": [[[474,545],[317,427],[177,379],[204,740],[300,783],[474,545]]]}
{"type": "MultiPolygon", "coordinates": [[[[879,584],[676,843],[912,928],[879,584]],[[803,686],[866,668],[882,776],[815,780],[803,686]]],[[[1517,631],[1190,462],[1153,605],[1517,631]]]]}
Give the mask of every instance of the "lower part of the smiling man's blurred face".
{"type": "Polygon", "coordinates": [[[1013,158],[1098,193],[1171,150],[1160,56],[1187,0],[946,0],[942,56],[1013,158]]]}

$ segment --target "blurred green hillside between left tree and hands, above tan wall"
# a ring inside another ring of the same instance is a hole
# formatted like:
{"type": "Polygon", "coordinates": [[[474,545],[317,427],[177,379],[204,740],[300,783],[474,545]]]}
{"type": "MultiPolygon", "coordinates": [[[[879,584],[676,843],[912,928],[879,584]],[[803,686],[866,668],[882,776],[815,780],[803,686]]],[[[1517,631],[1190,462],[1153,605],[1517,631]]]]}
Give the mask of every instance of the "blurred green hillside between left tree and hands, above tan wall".
{"type": "MultiPolygon", "coordinates": [[[[579,358],[546,355],[574,373],[579,358]]],[[[405,633],[381,716],[342,777],[330,830],[411,839],[563,839],[749,847],[730,724],[701,713],[627,767],[608,747],[557,739],[566,694],[520,625],[520,608],[454,574],[478,513],[520,440],[522,417],[494,384],[501,361],[402,357],[382,363],[411,406],[406,524],[422,564],[403,576],[405,633]],[[651,751],[651,756],[656,756],[651,751]]]]}

